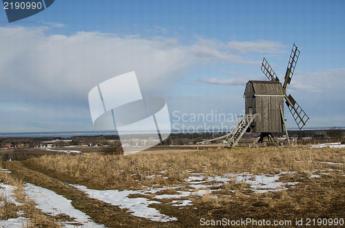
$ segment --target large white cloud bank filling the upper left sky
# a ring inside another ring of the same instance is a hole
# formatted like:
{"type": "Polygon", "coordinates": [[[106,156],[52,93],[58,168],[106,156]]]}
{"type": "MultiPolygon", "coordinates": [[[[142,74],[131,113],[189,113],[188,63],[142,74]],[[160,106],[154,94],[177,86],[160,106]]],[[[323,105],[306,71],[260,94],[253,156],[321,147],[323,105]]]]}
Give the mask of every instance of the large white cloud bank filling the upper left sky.
{"type": "MultiPolygon", "coordinates": [[[[199,39],[179,45],[176,39],[148,40],[115,34],[77,32],[47,35],[46,28],[0,28],[3,95],[81,97],[101,81],[135,71],[144,92],[164,87],[184,69],[201,61],[259,64],[233,54],[224,43],[199,39]],[[20,87],[20,90],[18,88],[20,87]]],[[[262,41],[260,41],[262,43],[262,41]]]]}

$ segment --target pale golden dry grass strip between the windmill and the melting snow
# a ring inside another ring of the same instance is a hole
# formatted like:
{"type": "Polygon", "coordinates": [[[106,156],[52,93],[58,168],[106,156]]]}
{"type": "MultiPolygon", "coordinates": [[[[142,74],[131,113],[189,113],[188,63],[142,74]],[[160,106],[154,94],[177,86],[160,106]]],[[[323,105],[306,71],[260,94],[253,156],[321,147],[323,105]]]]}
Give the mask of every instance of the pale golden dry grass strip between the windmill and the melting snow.
{"type": "Polygon", "coordinates": [[[344,149],[308,147],[266,147],[210,149],[182,152],[141,152],[132,156],[83,154],[42,156],[33,165],[77,183],[97,189],[139,189],[141,186],[174,185],[188,178],[188,172],[213,174],[275,174],[311,172],[345,163],[344,149]],[[138,181],[139,180],[139,181],[138,181]]]}

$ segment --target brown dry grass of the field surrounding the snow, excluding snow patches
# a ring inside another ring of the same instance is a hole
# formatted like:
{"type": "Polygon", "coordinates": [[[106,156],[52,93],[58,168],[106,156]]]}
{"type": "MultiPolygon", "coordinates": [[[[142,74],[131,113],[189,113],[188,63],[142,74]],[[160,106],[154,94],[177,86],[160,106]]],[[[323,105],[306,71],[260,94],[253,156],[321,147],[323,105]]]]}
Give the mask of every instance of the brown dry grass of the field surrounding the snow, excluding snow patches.
{"type": "MultiPolygon", "coordinates": [[[[117,223],[112,227],[130,227],[133,222],[137,222],[136,224],[141,227],[158,227],[162,224],[132,218],[133,216],[125,215],[126,212],[122,210],[114,213],[115,207],[99,203],[97,200],[91,202],[85,194],[77,193],[72,187],[66,186],[66,182],[86,185],[92,189],[143,189],[170,185],[181,185],[180,188],[183,189],[188,187],[184,179],[195,176],[196,173],[207,177],[242,172],[272,175],[288,172],[282,175],[279,181],[299,183],[282,191],[256,194],[248,190],[248,184],[237,183],[234,180],[224,183],[212,194],[194,194],[191,207],[172,207],[169,205],[171,200],[168,199],[152,206],[159,209],[162,214],[179,219],[177,222],[164,224],[168,227],[195,227],[199,224],[200,218],[344,218],[344,163],[345,149],[310,149],[299,146],[146,151],[130,156],[97,153],[79,156],[60,154],[42,156],[21,163],[10,162],[8,166],[12,166],[11,170],[17,169],[17,173],[26,176],[26,180],[32,181],[35,185],[59,191],[59,194],[77,202],[75,206],[90,213],[95,221],[107,220],[110,227],[111,224],[115,224],[114,222],[117,223]],[[323,174],[324,170],[328,174],[323,174]],[[28,175],[29,172],[32,174],[28,175]],[[311,174],[321,177],[311,178],[311,174]],[[48,177],[52,180],[48,181],[48,177]],[[99,210],[92,211],[94,208],[99,210]],[[99,214],[99,211],[106,213],[99,214]]],[[[166,189],[156,194],[175,193],[174,189],[166,189]]]]}

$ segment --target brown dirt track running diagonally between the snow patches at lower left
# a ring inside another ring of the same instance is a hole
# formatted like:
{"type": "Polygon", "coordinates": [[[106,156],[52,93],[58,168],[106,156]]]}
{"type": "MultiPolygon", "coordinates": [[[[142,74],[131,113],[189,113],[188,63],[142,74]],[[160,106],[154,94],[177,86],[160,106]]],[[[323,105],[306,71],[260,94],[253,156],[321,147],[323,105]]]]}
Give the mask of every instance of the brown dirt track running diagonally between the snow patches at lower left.
{"type": "Polygon", "coordinates": [[[75,209],[83,211],[92,220],[106,225],[106,227],[177,227],[172,222],[153,222],[146,218],[132,216],[126,212],[126,209],[120,209],[103,201],[88,198],[83,191],[75,189],[75,187],[68,185],[68,183],[32,170],[33,167],[28,167],[30,167],[30,160],[6,163],[6,169],[10,170],[12,174],[21,176],[28,183],[45,187],[72,200],[72,205],[75,209]]]}

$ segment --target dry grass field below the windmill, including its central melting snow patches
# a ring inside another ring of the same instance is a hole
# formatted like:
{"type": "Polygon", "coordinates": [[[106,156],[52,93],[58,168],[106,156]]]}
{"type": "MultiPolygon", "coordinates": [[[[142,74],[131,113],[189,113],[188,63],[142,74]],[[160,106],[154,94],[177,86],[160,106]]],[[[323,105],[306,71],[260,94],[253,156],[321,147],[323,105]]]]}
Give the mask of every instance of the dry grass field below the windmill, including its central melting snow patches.
{"type": "MultiPolygon", "coordinates": [[[[1,177],[3,182],[17,189],[32,183],[55,191],[106,227],[199,227],[248,218],[291,221],[284,225],[293,227],[301,219],[307,225],[307,219],[345,218],[343,148],[155,149],[130,156],[62,153],[2,165],[11,172],[2,173],[7,176],[1,177]]],[[[73,220],[68,214],[44,214],[23,194],[17,198],[24,205],[1,207],[1,220],[15,217],[13,211],[19,210],[26,211],[23,216],[34,221],[33,226],[73,220]],[[40,219],[32,219],[33,214],[40,219]]]]}

